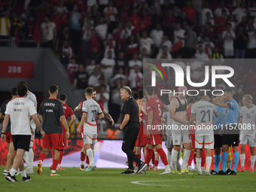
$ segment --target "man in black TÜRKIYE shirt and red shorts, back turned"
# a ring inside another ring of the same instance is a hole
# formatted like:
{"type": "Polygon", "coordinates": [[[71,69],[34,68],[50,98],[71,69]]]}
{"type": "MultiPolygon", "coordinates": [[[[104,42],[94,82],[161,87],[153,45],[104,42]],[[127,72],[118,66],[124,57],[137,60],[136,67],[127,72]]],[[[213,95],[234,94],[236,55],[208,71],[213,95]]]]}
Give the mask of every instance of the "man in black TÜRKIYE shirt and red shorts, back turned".
{"type": "Polygon", "coordinates": [[[43,151],[41,151],[39,157],[37,172],[38,175],[41,175],[43,161],[49,153],[50,148],[52,148],[52,150],[54,150],[54,156],[53,168],[50,172],[50,176],[59,176],[56,174],[56,166],[59,163],[59,151],[62,151],[64,147],[60,121],[66,130],[66,139],[69,139],[69,126],[66,121],[62,102],[59,102],[56,99],[58,96],[58,86],[55,84],[50,85],[49,93],[50,97],[41,102],[39,108],[39,119],[43,123],[45,136],[43,139],[43,151]]]}

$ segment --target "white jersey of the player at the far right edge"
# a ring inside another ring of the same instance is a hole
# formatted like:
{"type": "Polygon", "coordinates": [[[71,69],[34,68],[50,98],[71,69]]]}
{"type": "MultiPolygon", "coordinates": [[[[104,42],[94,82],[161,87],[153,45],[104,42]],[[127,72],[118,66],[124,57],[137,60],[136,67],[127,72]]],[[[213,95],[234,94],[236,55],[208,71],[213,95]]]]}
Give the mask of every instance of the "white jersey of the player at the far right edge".
{"type": "Polygon", "coordinates": [[[240,108],[239,116],[242,117],[242,127],[240,127],[240,134],[254,136],[256,133],[256,105],[252,105],[251,108],[242,106],[242,108],[240,108]]]}

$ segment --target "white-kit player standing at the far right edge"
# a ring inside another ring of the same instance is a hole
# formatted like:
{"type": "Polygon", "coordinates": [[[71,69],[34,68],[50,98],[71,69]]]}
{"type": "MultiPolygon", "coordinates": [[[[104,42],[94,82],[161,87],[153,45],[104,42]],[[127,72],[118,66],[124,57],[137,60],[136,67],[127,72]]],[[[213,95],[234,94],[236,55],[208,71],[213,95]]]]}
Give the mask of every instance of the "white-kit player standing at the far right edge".
{"type": "Polygon", "coordinates": [[[245,147],[250,146],[251,151],[251,169],[254,172],[255,163],[255,146],[256,146],[256,106],[252,104],[252,97],[246,94],[242,97],[242,108],[239,112],[239,129],[240,129],[240,161],[241,168],[238,172],[245,172],[245,147]]]}

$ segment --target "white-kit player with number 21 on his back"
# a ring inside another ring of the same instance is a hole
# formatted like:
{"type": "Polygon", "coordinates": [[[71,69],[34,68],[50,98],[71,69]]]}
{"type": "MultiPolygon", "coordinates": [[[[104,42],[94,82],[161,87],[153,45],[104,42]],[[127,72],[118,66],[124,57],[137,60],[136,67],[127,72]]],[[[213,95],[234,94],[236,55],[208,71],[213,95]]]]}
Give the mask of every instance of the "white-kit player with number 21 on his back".
{"type": "MultiPolygon", "coordinates": [[[[199,101],[201,96],[194,96],[196,101],[199,101]]],[[[205,175],[211,175],[209,172],[212,163],[212,149],[214,148],[214,133],[212,129],[212,115],[218,117],[218,112],[216,105],[211,102],[199,101],[192,105],[191,116],[190,116],[190,126],[194,124],[194,118],[196,117],[196,143],[195,147],[197,149],[197,170],[198,175],[203,175],[201,169],[201,153],[204,148],[206,149],[206,173],[205,175]]]]}

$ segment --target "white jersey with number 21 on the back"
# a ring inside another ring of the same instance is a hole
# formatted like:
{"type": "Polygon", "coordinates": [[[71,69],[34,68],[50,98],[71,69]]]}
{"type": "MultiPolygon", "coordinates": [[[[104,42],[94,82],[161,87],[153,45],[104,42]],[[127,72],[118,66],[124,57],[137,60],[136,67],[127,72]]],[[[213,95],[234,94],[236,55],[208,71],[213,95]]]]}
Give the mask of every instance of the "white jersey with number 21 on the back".
{"type": "Polygon", "coordinates": [[[213,134],[213,130],[209,126],[212,125],[212,115],[216,112],[217,108],[211,102],[200,101],[192,105],[191,114],[196,114],[197,135],[213,134]]]}

